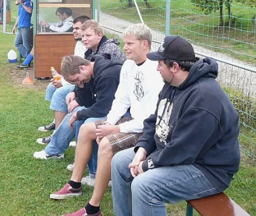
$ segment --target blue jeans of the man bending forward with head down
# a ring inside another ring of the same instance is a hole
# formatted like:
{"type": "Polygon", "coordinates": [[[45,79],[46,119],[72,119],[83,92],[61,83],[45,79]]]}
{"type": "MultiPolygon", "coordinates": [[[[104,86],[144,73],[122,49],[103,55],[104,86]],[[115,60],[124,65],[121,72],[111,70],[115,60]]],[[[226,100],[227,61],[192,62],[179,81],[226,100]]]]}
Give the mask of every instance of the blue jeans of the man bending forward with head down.
{"type": "MultiPolygon", "coordinates": [[[[65,118],[62,120],[62,123],[58,126],[57,130],[53,133],[50,143],[45,147],[44,151],[46,154],[51,156],[58,155],[64,153],[68,147],[70,141],[75,137],[76,134],[76,122],[73,123],[74,129],[72,130],[69,127],[69,120],[73,113],[79,110],[87,109],[86,107],[76,107],[71,113],[67,114],[65,118]]],[[[103,117],[106,118],[106,117],[103,117]]],[[[85,120],[85,123],[94,122],[103,118],[88,118],[85,120]]],[[[91,154],[91,158],[88,162],[89,172],[91,174],[95,174],[97,171],[97,158],[98,158],[98,144],[93,143],[93,150],[91,154]]]]}

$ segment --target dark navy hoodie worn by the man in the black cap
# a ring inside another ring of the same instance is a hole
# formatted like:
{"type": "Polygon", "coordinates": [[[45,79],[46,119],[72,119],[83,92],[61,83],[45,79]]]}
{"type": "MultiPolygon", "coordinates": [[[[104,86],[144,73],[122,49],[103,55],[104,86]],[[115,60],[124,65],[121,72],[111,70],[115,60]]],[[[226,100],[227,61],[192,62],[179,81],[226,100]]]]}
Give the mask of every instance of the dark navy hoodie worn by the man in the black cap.
{"type": "Polygon", "coordinates": [[[165,84],[134,150],[147,151],[144,171],[192,164],[219,191],[230,185],[240,162],[239,116],[217,75],[214,59],[199,59],[180,86],[165,84]]]}

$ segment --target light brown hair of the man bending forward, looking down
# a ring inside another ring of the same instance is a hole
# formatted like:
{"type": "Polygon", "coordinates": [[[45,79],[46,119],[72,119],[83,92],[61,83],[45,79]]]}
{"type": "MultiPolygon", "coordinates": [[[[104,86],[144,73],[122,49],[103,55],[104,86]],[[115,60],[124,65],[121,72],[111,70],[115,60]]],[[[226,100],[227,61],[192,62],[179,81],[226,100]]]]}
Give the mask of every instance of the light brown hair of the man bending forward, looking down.
{"type": "Polygon", "coordinates": [[[62,76],[65,80],[69,80],[69,76],[76,75],[80,73],[79,66],[89,65],[90,61],[79,56],[64,56],[62,58],[62,64],[60,65],[60,70],[62,71],[62,76]]]}

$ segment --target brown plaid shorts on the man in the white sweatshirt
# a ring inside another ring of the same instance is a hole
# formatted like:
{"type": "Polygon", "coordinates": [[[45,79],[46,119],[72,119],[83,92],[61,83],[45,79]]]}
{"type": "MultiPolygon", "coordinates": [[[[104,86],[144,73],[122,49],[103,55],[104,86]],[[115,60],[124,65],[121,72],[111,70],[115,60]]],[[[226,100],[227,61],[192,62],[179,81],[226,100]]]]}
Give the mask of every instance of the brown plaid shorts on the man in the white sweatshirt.
{"type": "MultiPolygon", "coordinates": [[[[122,117],[116,125],[124,122],[129,122],[130,120],[132,120],[132,117],[122,117]]],[[[104,125],[105,122],[106,119],[102,119],[97,120],[94,123],[95,126],[98,128],[99,125],[104,125]]],[[[114,133],[106,136],[105,138],[109,140],[113,154],[116,154],[119,151],[134,147],[142,134],[143,133],[114,133]]]]}

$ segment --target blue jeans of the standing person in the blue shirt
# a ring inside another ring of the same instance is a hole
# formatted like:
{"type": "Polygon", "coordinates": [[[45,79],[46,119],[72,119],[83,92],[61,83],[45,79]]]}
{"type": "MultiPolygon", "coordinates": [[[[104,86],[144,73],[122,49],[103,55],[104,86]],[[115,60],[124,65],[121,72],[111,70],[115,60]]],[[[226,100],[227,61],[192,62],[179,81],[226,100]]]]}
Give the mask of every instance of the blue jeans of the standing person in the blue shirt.
{"type": "Polygon", "coordinates": [[[18,49],[19,53],[21,53],[22,57],[26,58],[29,55],[31,50],[29,27],[22,27],[18,29],[14,45],[18,49]]]}

